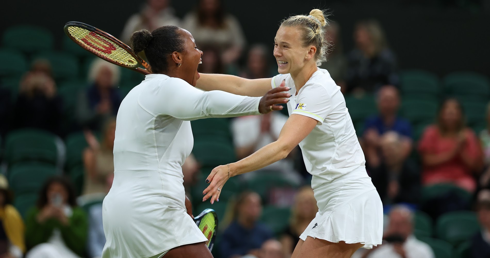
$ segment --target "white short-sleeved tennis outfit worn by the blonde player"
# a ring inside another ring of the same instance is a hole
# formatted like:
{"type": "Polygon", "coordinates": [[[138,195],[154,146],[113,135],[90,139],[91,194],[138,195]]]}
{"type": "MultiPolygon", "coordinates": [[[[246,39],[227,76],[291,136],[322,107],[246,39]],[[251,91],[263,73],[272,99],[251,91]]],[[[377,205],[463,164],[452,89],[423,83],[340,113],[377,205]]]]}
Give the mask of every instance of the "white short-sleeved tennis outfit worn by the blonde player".
{"type": "MultiPolygon", "coordinates": [[[[293,96],[290,74],[272,78],[272,88],[286,80],[293,96]]],[[[317,72],[287,103],[289,114],[311,117],[318,125],[299,147],[319,207],[315,219],[300,235],[329,242],[362,243],[364,248],[381,244],[383,205],[366,173],[363,150],[345,106],[343,94],[325,69],[317,72]]]]}

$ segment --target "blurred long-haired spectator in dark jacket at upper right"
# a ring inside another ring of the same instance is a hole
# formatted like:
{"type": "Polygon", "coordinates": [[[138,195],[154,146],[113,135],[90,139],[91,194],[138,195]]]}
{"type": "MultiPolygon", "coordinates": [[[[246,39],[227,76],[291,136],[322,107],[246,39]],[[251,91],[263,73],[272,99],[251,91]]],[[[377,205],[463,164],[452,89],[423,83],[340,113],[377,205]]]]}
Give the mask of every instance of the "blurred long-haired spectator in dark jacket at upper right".
{"type": "Polygon", "coordinates": [[[359,22],[354,41],[356,49],[349,53],[347,61],[347,91],[374,92],[386,84],[398,85],[395,56],[379,23],[359,22]]]}

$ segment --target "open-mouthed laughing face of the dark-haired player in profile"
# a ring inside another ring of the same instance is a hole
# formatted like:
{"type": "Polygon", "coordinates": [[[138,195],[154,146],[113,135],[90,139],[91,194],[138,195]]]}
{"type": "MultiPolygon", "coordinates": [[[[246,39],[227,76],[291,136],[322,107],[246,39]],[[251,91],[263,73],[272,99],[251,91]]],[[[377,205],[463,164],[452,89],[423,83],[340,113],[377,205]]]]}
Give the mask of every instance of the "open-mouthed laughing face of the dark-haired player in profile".
{"type": "Polygon", "coordinates": [[[181,66],[178,68],[182,70],[184,76],[182,79],[187,81],[192,86],[196,86],[199,73],[197,73],[197,66],[201,62],[202,51],[197,49],[196,41],[192,34],[182,29],[181,32],[184,37],[184,51],[180,55],[181,66]]]}

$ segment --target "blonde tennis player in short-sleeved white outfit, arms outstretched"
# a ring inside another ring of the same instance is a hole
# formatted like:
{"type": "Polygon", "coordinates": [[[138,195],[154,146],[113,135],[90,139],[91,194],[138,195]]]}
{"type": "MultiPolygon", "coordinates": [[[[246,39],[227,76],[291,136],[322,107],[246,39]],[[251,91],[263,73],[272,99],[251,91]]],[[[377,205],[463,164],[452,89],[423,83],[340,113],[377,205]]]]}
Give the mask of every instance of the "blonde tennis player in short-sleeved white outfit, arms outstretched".
{"type": "Polygon", "coordinates": [[[360,247],[381,244],[383,207],[366,173],[365,158],[340,87],[318,66],[325,61],[324,14],[284,20],[274,38],[279,75],[244,79],[202,74],[197,87],[245,96],[261,96],[283,81],[294,97],[290,117],[277,141],[244,159],[213,169],[203,201],[218,200],[229,177],[263,168],[285,158],[299,144],[319,207],[301,234],[293,258],[350,258],[360,247]]]}

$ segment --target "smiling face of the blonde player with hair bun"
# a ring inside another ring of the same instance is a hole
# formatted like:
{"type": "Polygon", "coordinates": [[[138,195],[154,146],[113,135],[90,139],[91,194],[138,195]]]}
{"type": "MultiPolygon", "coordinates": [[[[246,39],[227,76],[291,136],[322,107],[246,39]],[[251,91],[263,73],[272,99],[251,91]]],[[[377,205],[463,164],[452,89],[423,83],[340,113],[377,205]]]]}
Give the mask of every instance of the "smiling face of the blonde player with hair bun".
{"type": "Polygon", "coordinates": [[[303,37],[298,26],[280,26],[274,38],[274,57],[279,74],[297,74],[308,62],[315,62],[315,46],[303,46],[298,40],[303,37]],[[312,48],[314,52],[312,53],[312,48]],[[308,57],[308,59],[306,59],[308,57]]]}

